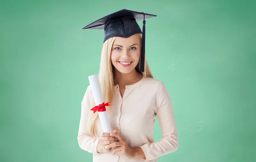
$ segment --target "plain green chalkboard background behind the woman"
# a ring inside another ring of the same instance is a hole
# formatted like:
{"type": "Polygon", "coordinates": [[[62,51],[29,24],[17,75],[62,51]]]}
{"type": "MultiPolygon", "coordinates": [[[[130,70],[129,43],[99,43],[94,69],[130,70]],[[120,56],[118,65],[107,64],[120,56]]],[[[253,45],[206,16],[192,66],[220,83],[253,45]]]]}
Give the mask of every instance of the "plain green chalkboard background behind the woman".
{"type": "Polygon", "coordinates": [[[82,28],[124,8],[157,15],[146,22],[147,58],[179,135],[158,161],[256,162],[253,0],[1,1],[0,162],[92,162],[77,133],[104,31],[82,28]]]}

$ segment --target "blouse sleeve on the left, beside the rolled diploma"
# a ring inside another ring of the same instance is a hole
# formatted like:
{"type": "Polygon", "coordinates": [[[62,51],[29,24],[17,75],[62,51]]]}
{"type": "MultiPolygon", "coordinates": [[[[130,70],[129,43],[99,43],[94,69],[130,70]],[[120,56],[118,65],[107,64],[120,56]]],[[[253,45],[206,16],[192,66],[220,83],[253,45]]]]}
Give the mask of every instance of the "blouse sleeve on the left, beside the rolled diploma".
{"type": "Polygon", "coordinates": [[[84,94],[84,98],[81,102],[81,118],[79,123],[79,132],[78,132],[78,143],[79,147],[89,153],[99,154],[97,150],[97,145],[99,142],[98,138],[94,138],[88,134],[87,120],[90,113],[89,103],[92,97],[90,90],[90,85],[87,87],[87,90],[84,94]]]}

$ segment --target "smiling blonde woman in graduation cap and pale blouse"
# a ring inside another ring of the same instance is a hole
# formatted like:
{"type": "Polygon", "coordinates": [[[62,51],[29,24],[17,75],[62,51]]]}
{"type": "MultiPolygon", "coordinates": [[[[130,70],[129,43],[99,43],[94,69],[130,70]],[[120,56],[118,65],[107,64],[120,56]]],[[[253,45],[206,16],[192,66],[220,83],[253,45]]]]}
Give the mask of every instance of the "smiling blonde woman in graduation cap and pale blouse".
{"type": "Polygon", "coordinates": [[[157,162],[178,148],[172,101],[165,84],[153,78],[145,57],[145,18],[120,10],[85,28],[105,30],[99,79],[113,133],[102,131],[90,86],[81,102],[78,143],[93,162],[157,162]],[[144,19],[143,32],[137,20],[144,19]],[[100,26],[100,23],[103,25],[100,26]],[[143,39],[144,37],[144,39],[143,39]],[[157,116],[162,139],[154,142],[157,116]]]}

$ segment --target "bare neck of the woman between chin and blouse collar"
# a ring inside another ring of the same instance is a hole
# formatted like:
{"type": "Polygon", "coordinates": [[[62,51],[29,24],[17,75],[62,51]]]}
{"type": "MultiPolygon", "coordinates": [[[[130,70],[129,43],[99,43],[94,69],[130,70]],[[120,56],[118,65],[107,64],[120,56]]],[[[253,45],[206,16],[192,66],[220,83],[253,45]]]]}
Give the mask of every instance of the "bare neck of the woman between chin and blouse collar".
{"type": "Polygon", "coordinates": [[[143,78],[143,75],[137,72],[135,69],[130,73],[120,73],[115,69],[115,84],[119,86],[132,85],[140,81],[143,78]]]}

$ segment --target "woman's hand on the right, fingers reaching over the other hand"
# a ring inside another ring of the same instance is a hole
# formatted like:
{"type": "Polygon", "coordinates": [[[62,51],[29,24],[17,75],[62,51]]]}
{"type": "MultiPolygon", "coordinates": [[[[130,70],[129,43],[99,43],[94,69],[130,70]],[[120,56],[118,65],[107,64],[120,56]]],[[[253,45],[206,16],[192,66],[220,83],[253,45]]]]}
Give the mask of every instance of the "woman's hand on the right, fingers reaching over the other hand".
{"type": "Polygon", "coordinates": [[[117,142],[113,142],[109,145],[107,145],[107,148],[113,148],[112,150],[112,155],[125,155],[127,156],[129,159],[134,158],[135,156],[135,149],[134,148],[130,148],[125,140],[122,139],[122,137],[120,136],[120,134],[110,134],[111,137],[116,137],[117,142]]]}

